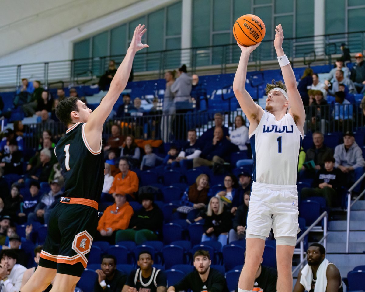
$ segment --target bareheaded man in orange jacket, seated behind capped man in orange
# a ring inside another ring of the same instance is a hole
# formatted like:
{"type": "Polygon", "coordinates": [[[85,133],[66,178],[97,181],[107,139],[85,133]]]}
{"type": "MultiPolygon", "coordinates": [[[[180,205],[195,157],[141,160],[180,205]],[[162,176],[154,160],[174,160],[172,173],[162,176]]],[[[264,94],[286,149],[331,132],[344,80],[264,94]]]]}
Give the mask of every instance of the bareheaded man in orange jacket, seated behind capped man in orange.
{"type": "Polygon", "coordinates": [[[132,170],[129,170],[128,161],[124,158],[119,160],[120,173],[116,174],[109,193],[126,195],[128,199],[135,199],[134,193],[138,192],[138,176],[132,170]]]}

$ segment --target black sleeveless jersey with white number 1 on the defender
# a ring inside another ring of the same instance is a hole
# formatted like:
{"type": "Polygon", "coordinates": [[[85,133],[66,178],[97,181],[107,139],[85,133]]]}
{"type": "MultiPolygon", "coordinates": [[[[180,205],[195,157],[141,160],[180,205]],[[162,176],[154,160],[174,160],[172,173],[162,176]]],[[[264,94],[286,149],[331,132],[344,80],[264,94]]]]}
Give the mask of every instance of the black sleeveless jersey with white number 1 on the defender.
{"type": "Polygon", "coordinates": [[[85,124],[76,123],[69,128],[54,153],[65,179],[63,196],[99,202],[104,184],[103,149],[101,142],[99,151],[90,148],[85,138],[85,124]]]}

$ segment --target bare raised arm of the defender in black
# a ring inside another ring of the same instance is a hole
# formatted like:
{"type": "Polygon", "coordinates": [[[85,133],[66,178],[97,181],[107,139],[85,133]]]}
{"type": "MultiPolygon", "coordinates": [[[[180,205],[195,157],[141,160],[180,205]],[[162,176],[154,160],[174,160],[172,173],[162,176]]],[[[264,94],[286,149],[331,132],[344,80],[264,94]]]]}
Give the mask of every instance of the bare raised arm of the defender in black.
{"type": "Polygon", "coordinates": [[[142,26],[139,24],[135,28],[127,54],[114,75],[107,95],[88,118],[88,122],[85,125],[85,138],[91,149],[94,151],[99,150],[103,124],[110,115],[115,102],[118,100],[120,94],[127,85],[135,53],[145,47],[148,47],[148,45],[143,45],[141,42],[142,36],[145,32],[146,28],[144,24],[142,26]]]}

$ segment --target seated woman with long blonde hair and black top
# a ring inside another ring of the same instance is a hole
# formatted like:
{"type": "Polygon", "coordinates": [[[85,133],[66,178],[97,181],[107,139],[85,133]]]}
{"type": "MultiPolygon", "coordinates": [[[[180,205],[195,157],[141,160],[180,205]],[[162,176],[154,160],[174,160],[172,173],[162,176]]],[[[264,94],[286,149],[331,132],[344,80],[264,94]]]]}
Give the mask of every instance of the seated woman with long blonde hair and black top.
{"type": "Polygon", "coordinates": [[[218,240],[222,247],[227,244],[228,232],[232,228],[231,214],[223,210],[223,202],[212,197],[208,204],[201,241],[218,240]]]}

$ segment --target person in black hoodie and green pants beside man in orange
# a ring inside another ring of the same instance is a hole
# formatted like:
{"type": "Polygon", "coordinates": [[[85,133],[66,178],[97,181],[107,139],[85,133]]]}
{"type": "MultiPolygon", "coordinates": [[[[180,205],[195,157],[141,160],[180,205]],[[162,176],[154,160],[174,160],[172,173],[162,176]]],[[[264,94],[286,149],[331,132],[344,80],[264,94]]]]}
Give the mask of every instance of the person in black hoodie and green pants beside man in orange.
{"type": "Polygon", "coordinates": [[[147,240],[160,239],[164,222],[162,211],[153,203],[152,194],[142,193],[139,199],[142,201],[142,208],[133,214],[128,229],[117,231],[116,242],[130,240],[141,245],[147,240]]]}

